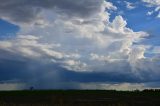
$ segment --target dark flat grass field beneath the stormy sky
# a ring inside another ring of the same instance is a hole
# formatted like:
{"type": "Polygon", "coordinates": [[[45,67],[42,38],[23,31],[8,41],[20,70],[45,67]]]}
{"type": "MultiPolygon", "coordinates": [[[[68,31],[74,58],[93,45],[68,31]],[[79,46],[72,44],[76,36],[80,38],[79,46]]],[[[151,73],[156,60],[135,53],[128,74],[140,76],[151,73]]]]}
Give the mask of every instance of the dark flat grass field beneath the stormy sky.
{"type": "Polygon", "coordinates": [[[160,106],[160,91],[6,91],[0,106],[160,106]]]}

